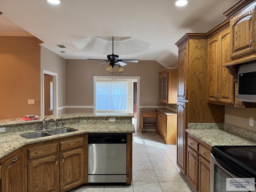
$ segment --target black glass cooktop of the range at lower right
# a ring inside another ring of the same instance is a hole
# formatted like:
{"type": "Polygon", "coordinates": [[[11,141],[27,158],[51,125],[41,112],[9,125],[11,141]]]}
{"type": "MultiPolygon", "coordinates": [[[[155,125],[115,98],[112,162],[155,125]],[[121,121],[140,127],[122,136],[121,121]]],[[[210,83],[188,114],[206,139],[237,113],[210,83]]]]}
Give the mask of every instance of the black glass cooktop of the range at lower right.
{"type": "Polygon", "coordinates": [[[256,146],[213,146],[211,155],[236,176],[256,178],[256,146]]]}

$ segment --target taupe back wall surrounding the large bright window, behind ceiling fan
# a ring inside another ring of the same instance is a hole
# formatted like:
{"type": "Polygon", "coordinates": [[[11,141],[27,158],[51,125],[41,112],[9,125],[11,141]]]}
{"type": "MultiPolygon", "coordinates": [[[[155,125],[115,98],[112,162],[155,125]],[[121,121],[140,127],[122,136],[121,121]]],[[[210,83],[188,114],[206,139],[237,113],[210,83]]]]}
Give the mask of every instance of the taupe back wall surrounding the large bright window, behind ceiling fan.
{"type": "MultiPolygon", "coordinates": [[[[110,76],[108,64],[94,60],[66,60],[66,105],[93,106],[93,75],[110,76]]],[[[164,105],[158,101],[158,73],[164,66],[156,61],[128,63],[122,76],[140,76],[140,106],[164,105]]],[[[118,76],[112,76],[118,78],[118,76]]],[[[70,112],[92,112],[92,108],[67,108],[70,112]]]]}

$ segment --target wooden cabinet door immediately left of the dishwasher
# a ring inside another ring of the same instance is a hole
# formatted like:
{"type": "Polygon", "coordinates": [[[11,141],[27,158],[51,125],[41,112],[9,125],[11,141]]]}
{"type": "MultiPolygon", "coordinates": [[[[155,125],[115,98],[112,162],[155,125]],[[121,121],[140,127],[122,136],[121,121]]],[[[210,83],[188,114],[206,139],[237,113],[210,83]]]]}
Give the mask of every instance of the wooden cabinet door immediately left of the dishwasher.
{"type": "Polygon", "coordinates": [[[60,191],[64,192],[84,183],[84,148],[60,154],[60,191]]]}

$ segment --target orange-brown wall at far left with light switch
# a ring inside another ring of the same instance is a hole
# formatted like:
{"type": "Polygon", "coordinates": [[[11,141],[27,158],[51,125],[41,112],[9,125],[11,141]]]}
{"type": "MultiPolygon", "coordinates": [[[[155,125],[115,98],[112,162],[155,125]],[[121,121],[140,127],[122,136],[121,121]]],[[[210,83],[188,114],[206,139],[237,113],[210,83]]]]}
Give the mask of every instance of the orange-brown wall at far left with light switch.
{"type": "Polygon", "coordinates": [[[0,36],[0,119],[40,115],[39,43],[35,37],[0,36]]]}

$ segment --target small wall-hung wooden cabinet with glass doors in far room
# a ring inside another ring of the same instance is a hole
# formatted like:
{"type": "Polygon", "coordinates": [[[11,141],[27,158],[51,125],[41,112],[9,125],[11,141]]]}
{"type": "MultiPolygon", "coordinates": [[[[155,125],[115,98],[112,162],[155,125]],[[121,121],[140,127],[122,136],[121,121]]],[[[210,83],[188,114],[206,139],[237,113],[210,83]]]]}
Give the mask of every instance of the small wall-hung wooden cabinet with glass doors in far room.
{"type": "Polygon", "coordinates": [[[177,103],[177,75],[178,68],[168,67],[158,72],[159,74],[159,101],[177,103]]]}

